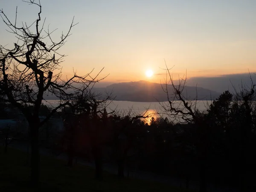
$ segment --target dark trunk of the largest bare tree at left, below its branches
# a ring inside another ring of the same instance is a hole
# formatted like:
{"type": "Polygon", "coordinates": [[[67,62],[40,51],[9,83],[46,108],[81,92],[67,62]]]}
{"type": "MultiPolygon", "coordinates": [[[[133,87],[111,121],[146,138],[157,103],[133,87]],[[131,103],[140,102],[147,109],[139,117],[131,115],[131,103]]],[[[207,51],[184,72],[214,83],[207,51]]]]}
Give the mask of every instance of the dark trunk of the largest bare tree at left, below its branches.
{"type": "Polygon", "coordinates": [[[30,144],[31,144],[31,182],[32,186],[37,187],[40,175],[40,148],[39,148],[39,126],[34,124],[30,126],[30,144]]]}

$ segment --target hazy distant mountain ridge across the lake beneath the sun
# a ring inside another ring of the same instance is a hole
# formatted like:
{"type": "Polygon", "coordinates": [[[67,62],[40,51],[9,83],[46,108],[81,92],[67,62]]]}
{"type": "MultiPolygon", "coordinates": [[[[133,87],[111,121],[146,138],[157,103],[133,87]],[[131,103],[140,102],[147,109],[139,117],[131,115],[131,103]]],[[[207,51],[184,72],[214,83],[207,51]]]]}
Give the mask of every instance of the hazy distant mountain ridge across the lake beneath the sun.
{"type": "MultiPolygon", "coordinates": [[[[125,83],[115,83],[107,87],[94,88],[96,93],[111,93],[116,96],[116,101],[132,102],[164,102],[168,101],[167,94],[163,91],[161,84],[149,81],[131,81],[125,83]]],[[[169,93],[173,93],[172,86],[168,86],[169,93]]],[[[189,99],[210,100],[216,99],[221,93],[205,89],[202,87],[186,86],[183,95],[189,99]]]]}

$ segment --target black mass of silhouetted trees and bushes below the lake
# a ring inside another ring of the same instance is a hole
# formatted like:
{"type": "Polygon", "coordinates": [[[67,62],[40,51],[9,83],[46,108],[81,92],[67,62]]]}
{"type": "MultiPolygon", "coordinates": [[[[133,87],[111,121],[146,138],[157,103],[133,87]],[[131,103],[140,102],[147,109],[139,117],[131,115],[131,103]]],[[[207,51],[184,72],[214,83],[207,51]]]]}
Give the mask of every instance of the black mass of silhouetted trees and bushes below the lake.
{"type": "MultiPolygon", "coordinates": [[[[191,101],[188,105],[192,103],[191,101]]],[[[5,106],[12,108],[10,105],[5,106]]],[[[170,112],[171,106],[163,106],[166,113],[170,112]]],[[[50,109],[46,109],[47,107],[42,105],[40,114],[50,113],[50,109]]],[[[144,119],[147,117],[145,114],[108,114],[106,110],[102,113],[92,111],[87,114],[78,111],[74,113],[70,107],[64,108],[52,119],[63,119],[63,128],[55,129],[50,119],[47,126],[39,129],[39,143],[41,149],[47,148],[55,157],[66,154],[67,159],[47,161],[49,164],[44,164],[42,160],[41,174],[49,172],[52,175],[52,172],[58,172],[54,168],[56,167],[62,172],[61,175],[68,177],[80,169],[76,165],[79,158],[95,163],[95,169],[87,172],[88,177],[103,183],[110,177],[103,171],[104,164],[108,163],[118,168],[116,176],[111,176],[117,183],[133,181],[124,179],[131,177],[131,172],[146,171],[182,180],[186,183],[183,188],[187,189],[191,189],[191,185],[196,181],[200,191],[211,191],[212,186],[234,192],[253,191],[256,187],[253,182],[256,171],[255,110],[253,89],[244,90],[239,94],[226,91],[213,101],[206,111],[192,111],[190,114],[183,108],[180,112],[185,115],[182,122],[154,117],[148,122],[144,119]],[[56,162],[60,164],[56,166],[56,162]],[[71,171],[73,169],[74,171],[71,171]],[[67,172],[64,173],[65,171],[67,172]],[[123,182],[120,181],[122,179],[123,182]]],[[[9,137],[16,140],[15,142],[28,141],[28,133],[23,129],[10,130],[12,131],[8,132],[9,137]]],[[[5,134],[6,129],[2,129],[2,141],[6,141],[5,134]]],[[[10,168],[11,164],[15,167],[30,161],[29,153],[23,154],[26,160],[19,156],[14,157],[12,152],[9,157],[6,147],[3,148],[7,153],[3,159],[13,160],[7,161],[9,166],[6,166],[5,170],[10,168]]],[[[81,166],[82,169],[85,168],[81,166]]],[[[26,168],[26,172],[28,170],[26,168]]],[[[41,176],[41,179],[43,178],[44,176],[41,176]]],[[[72,176],[70,178],[72,179],[72,176]]],[[[76,177],[77,180],[83,178],[82,174],[76,177]]],[[[41,182],[44,183],[44,179],[41,182]]]]}

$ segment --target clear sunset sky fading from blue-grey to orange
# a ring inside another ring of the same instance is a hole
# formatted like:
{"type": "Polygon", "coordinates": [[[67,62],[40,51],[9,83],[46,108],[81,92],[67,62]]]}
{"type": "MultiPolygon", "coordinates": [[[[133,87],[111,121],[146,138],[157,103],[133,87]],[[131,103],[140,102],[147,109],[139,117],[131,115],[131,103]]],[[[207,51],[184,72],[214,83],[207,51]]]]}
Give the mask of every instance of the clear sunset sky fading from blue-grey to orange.
{"type": "MultiPolygon", "coordinates": [[[[256,0],[41,0],[46,27],[58,40],[75,17],[78,23],[61,48],[64,75],[105,67],[105,81],[214,77],[256,71],[256,0]],[[154,73],[150,78],[145,71],[154,73]],[[187,71],[187,72],[186,72],[187,71]]],[[[10,20],[31,23],[38,8],[0,0],[10,20]]],[[[16,42],[0,22],[0,44],[16,42]],[[4,38],[3,38],[4,37],[4,38]]]]}

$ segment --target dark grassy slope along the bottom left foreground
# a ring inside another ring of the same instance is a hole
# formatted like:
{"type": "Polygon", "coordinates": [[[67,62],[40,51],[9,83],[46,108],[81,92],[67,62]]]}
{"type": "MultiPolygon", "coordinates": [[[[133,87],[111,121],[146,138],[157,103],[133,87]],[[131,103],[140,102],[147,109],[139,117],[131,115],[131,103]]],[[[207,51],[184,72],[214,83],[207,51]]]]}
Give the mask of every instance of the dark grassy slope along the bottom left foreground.
{"type": "MultiPolygon", "coordinates": [[[[30,168],[26,166],[26,153],[9,148],[3,154],[0,148],[0,191],[32,192],[29,187],[30,168]]],[[[104,172],[103,181],[93,178],[93,168],[76,165],[65,166],[64,160],[41,157],[42,192],[182,192],[184,190],[157,183],[136,179],[118,179],[115,175],[104,172]]],[[[38,190],[39,191],[39,190],[38,190]]]]}

